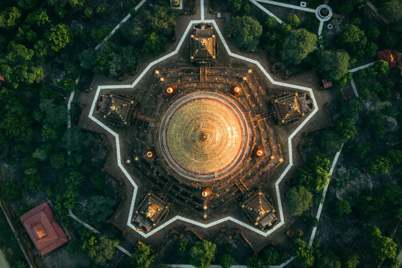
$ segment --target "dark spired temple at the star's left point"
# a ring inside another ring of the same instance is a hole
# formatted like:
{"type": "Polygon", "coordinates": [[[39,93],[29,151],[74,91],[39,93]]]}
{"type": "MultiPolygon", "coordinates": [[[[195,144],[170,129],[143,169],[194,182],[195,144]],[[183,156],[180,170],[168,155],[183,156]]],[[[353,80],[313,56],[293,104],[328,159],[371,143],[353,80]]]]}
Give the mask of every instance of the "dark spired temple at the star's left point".
{"type": "Polygon", "coordinates": [[[133,100],[122,96],[102,95],[96,102],[96,112],[113,123],[128,126],[133,119],[135,105],[133,100]]]}

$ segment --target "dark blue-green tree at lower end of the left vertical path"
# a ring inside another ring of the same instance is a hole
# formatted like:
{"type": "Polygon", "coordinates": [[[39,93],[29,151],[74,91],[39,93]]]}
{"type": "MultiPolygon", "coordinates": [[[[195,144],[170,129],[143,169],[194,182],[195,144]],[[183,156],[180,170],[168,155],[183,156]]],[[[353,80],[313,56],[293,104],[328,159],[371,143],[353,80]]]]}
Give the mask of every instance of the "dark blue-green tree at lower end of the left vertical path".
{"type": "Polygon", "coordinates": [[[60,147],[67,151],[81,151],[82,147],[87,146],[92,139],[88,132],[82,132],[77,126],[67,129],[61,137],[60,147]]]}

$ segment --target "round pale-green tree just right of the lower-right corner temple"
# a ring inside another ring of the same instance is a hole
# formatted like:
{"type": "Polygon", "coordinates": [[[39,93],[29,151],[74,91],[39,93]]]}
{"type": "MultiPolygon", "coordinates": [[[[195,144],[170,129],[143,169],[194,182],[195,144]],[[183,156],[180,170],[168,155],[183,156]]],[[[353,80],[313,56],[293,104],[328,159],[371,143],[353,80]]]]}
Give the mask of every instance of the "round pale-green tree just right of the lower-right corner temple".
{"type": "Polygon", "coordinates": [[[313,194],[303,186],[293,187],[286,194],[285,205],[292,215],[300,216],[313,206],[313,194]]]}

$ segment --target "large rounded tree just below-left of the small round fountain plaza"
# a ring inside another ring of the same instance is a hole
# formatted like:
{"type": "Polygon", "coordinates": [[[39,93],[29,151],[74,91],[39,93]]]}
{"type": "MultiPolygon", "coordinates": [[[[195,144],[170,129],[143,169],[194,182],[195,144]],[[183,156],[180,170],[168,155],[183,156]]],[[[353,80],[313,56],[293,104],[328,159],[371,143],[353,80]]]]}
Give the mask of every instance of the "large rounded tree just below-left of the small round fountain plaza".
{"type": "Polygon", "coordinates": [[[314,51],[316,43],[317,36],[315,34],[306,29],[298,29],[285,38],[280,55],[286,64],[299,64],[314,51]]]}

